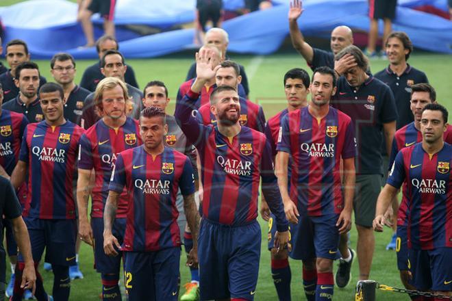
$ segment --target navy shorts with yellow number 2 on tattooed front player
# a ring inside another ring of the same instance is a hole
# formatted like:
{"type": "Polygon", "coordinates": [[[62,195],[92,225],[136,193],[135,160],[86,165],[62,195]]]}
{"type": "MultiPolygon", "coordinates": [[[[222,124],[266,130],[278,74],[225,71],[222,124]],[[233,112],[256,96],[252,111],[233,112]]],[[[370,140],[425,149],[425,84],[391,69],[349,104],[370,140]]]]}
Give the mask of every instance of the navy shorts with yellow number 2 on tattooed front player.
{"type": "Polygon", "coordinates": [[[177,301],[181,248],[123,254],[127,300],[177,301]]]}

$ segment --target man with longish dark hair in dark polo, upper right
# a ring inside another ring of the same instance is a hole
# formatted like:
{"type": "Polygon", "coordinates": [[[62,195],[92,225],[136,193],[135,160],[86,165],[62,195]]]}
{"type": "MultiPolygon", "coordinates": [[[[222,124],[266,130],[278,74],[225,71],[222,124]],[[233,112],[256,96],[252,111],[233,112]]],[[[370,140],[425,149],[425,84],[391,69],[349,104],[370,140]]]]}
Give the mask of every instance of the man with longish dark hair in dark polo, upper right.
{"type": "MultiPolygon", "coordinates": [[[[416,83],[428,83],[427,75],[416,68],[413,68],[407,64],[407,60],[413,51],[413,44],[410,38],[403,31],[393,31],[389,34],[386,40],[386,56],[388,57],[389,66],[374,76],[386,83],[394,94],[394,99],[397,106],[397,129],[401,129],[405,125],[414,121],[414,116],[410,109],[411,100],[411,86],[416,83]]],[[[386,147],[381,150],[383,152],[383,167],[384,170],[388,168],[388,154],[386,153],[386,147]]],[[[387,172],[384,172],[386,178],[387,172]]],[[[385,181],[386,183],[386,181],[385,181]]],[[[397,198],[392,200],[392,210],[394,215],[397,215],[399,210],[399,202],[397,198]]],[[[394,217],[395,218],[395,217],[394,217]]],[[[394,234],[386,250],[395,250],[397,235],[395,234],[394,222],[394,234]]]]}

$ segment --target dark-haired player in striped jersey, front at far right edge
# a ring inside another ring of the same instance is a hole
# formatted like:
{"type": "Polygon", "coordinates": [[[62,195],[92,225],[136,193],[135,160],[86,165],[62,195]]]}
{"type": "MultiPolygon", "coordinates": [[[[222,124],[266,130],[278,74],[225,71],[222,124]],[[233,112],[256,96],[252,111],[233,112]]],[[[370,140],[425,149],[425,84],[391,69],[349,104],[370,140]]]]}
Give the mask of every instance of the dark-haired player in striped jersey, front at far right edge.
{"type": "Polygon", "coordinates": [[[422,142],[397,154],[377,200],[373,228],[383,231],[384,213],[404,185],[410,283],[420,291],[452,296],[452,145],[444,142],[447,118],[442,105],[424,107],[420,118],[422,142]]]}

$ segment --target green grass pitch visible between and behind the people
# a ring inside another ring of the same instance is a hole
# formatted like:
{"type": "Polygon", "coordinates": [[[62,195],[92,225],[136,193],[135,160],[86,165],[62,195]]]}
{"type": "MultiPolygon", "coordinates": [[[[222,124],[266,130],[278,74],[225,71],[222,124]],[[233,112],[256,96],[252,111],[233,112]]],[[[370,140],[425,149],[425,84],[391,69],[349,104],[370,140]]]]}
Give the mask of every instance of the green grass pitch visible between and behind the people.
{"type": "MultiPolygon", "coordinates": [[[[3,3],[2,3],[3,5],[3,3]]],[[[33,56],[33,54],[32,54],[33,56]]],[[[253,56],[253,55],[231,55],[231,58],[244,65],[249,77],[250,99],[260,103],[264,107],[266,118],[273,116],[285,107],[283,77],[290,68],[301,67],[308,70],[305,62],[294,51],[285,51],[275,55],[253,56]]],[[[451,55],[437,55],[431,53],[418,53],[410,57],[409,63],[412,66],[427,73],[430,83],[436,88],[438,102],[445,105],[449,112],[452,112],[452,90],[450,79],[452,70],[451,55]]],[[[33,59],[33,57],[32,57],[33,59]]],[[[81,75],[92,60],[77,60],[77,77],[75,81],[80,81],[81,75]]],[[[51,81],[49,61],[37,61],[40,72],[51,81]]],[[[192,63],[190,53],[178,55],[168,55],[166,57],[149,60],[126,60],[126,63],[133,66],[140,87],[144,87],[147,81],[160,79],[166,83],[171,98],[168,112],[173,112],[177,88],[185,79],[188,66],[192,63]]],[[[377,72],[385,68],[385,60],[372,60],[371,70],[377,72]]],[[[311,71],[308,70],[311,74],[311,71]]],[[[450,122],[449,118],[449,122],[450,122]]],[[[270,272],[270,256],[267,249],[266,233],[267,224],[258,218],[262,227],[262,254],[260,260],[260,274],[258,287],[255,293],[255,300],[277,300],[276,291],[270,272]]],[[[396,257],[394,251],[386,251],[391,235],[390,229],[386,228],[384,233],[376,233],[375,255],[371,271],[371,278],[379,283],[391,286],[402,287],[397,271],[396,257]]],[[[356,246],[355,227],[351,231],[351,246],[356,246]]],[[[188,280],[189,271],[184,267],[185,254],[181,257],[181,283],[188,280]]],[[[305,300],[303,286],[301,283],[301,262],[290,261],[292,270],[292,300],[305,300]]],[[[9,280],[9,264],[7,265],[7,280],[9,280]]],[[[71,288],[71,300],[99,300],[101,293],[100,276],[92,269],[92,248],[82,244],[80,250],[80,267],[84,273],[84,279],[75,280],[71,288]]],[[[335,263],[336,270],[336,263],[335,263]]],[[[354,286],[357,280],[357,261],[353,263],[352,280],[345,289],[335,287],[335,300],[352,300],[354,296],[354,286]]],[[[41,271],[45,278],[45,288],[51,293],[53,285],[53,275],[51,272],[41,271]]],[[[123,280],[121,280],[123,283],[123,280]]],[[[390,293],[386,291],[377,292],[377,300],[409,300],[406,295],[390,293]]]]}

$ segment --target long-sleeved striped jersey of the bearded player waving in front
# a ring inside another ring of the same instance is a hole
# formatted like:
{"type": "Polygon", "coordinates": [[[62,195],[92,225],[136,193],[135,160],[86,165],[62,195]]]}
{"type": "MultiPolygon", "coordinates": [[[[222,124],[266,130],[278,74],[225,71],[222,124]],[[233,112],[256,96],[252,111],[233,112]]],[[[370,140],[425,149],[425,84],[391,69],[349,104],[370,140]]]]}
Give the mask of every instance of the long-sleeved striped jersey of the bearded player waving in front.
{"type": "Polygon", "coordinates": [[[253,222],[258,216],[262,177],[262,192],[276,215],[278,231],[286,231],[288,222],[277,189],[271,146],[265,135],[241,127],[240,133],[228,138],[218,127],[199,124],[191,114],[192,103],[198,96],[190,90],[184,99],[177,101],[175,118],[201,159],[203,218],[231,226],[253,222]]]}

